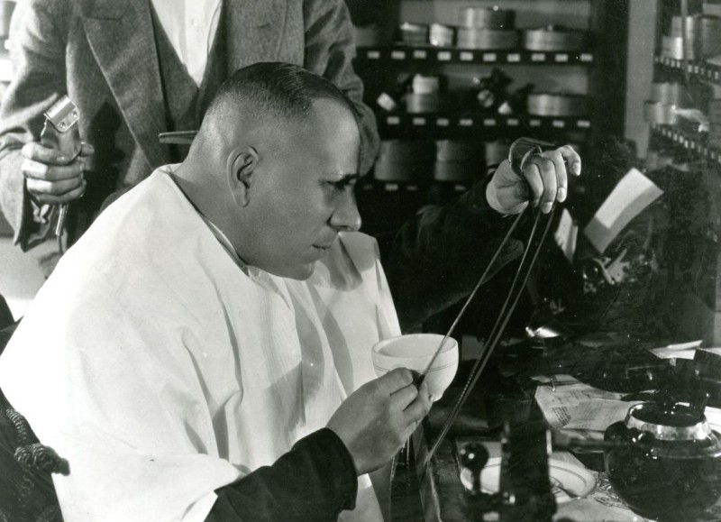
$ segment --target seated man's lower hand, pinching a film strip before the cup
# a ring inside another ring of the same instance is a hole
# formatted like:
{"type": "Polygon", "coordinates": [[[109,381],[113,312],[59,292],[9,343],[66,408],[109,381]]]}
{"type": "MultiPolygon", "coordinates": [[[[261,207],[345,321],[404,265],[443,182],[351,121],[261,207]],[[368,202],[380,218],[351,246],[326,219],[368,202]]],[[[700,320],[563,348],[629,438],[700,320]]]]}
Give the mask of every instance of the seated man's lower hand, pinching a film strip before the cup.
{"type": "Polygon", "coordinates": [[[328,427],[341,437],[361,475],[379,469],[396,455],[431,404],[425,383],[415,389],[411,372],[397,368],[346,398],[328,427]]]}

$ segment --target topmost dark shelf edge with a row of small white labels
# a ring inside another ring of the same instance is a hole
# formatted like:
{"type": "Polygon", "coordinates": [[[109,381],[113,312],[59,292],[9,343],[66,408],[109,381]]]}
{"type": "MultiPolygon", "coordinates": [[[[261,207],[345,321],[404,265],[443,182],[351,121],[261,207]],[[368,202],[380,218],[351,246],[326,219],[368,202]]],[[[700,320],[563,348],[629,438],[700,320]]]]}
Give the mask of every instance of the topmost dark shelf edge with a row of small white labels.
{"type": "Polygon", "coordinates": [[[540,52],[531,50],[478,50],[455,47],[360,47],[356,61],[391,63],[470,63],[508,65],[592,65],[591,51],[540,52]]]}

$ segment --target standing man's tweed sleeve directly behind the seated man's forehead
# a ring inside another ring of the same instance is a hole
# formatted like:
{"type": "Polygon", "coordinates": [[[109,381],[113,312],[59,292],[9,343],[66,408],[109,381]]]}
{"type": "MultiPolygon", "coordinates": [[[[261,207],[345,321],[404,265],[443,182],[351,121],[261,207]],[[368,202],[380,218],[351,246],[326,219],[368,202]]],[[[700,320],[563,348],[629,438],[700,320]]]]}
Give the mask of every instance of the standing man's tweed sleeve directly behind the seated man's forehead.
{"type": "Polygon", "coordinates": [[[360,114],[360,173],[373,166],[379,148],[376,118],[364,105],[363,83],[352,59],[355,43],[351,15],[343,0],[305,0],[306,56],[304,67],[321,74],[351,98],[360,114]]]}

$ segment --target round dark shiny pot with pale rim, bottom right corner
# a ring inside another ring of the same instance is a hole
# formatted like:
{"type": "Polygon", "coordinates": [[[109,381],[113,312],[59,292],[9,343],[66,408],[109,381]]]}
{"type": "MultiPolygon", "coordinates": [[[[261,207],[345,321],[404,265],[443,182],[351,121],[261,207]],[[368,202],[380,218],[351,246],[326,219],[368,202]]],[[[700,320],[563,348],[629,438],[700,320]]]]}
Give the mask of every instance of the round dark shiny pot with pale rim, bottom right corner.
{"type": "Polygon", "coordinates": [[[618,496],[643,517],[702,518],[721,496],[721,440],[706,417],[680,404],[643,403],[608,426],[606,472],[618,496]]]}

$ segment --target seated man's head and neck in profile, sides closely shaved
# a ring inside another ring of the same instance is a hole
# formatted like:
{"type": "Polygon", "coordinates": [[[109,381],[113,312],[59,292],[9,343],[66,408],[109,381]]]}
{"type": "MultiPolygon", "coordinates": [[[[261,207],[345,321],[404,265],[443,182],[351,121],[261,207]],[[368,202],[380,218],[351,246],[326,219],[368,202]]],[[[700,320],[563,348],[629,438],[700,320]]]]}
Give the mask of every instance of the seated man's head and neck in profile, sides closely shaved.
{"type": "Polygon", "coordinates": [[[244,263],[306,279],[340,232],[360,228],[359,156],[358,114],[337,87],[259,63],[220,88],[173,179],[244,263]]]}

